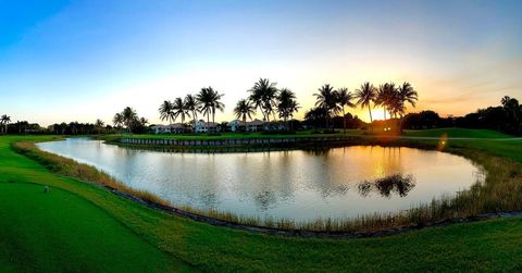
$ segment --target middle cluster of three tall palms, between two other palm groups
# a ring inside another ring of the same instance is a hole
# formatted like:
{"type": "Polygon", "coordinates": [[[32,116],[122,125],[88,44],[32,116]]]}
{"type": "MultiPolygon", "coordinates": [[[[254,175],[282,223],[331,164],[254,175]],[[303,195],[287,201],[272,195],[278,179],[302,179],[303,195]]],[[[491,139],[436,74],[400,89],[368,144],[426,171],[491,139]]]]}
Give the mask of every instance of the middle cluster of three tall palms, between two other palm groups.
{"type": "MultiPolygon", "coordinates": [[[[276,120],[277,113],[279,119],[285,123],[294,119],[294,113],[298,112],[300,107],[296,100],[296,94],[288,88],[277,89],[276,83],[270,83],[268,78],[260,78],[252,88],[248,99],[241,99],[234,108],[234,114],[237,119],[246,124],[247,117],[252,119],[259,109],[263,115],[263,121],[270,123],[270,117],[276,120]]],[[[290,129],[290,126],[287,126],[290,129]]],[[[247,129],[245,127],[245,129],[247,129]]]]}

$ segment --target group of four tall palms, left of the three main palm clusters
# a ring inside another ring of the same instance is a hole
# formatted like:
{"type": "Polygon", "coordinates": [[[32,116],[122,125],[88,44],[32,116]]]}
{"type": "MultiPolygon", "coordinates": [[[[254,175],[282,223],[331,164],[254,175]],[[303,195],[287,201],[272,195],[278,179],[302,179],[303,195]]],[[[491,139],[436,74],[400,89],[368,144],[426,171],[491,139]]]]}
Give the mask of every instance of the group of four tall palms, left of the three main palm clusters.
{"type": "Polygon", "coordinates": [[[216,111],[223,112],[225,104],[221,101],[223,94],[214,90],[212,87],[203,87],[196,95],[187,95],[185,99],[176,98],[174,101],[165,100],[159,108],[160,119],[162,121],[169,121],[174,123],[177,117],[181,117],[182,124],[185,123],[185,119],[192,119],[194,129],[196,129],[196,120],[198,113],[207,116],[207,132],[209,132],[210,116],[212,115],[212,122],[215,122],[216,111]]]}

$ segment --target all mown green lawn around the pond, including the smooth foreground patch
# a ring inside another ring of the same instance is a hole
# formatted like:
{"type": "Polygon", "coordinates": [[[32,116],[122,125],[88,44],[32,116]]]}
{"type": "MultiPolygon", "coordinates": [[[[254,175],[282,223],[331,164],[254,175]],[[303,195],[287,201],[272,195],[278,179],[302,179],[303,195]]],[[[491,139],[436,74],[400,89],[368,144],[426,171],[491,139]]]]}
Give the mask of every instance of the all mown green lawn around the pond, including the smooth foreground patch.
{"type": "MultiPolygon", "coordinates": [[[[365,239],[253,234],[173,216],[52,174],[10,148],[21,138],[0,137],[0,271],[138,271],[144,261],[148,266],[177,266],[183,265],[179,260],[216,272],[522,270],[521,218],[365,239]],[[28,183],[50,185],[51,193],[28,183]],[[109,262],[103,253],[110,253],[109,262]]],[[[520,140],[450,145],[522,162],[520,140]]]]}

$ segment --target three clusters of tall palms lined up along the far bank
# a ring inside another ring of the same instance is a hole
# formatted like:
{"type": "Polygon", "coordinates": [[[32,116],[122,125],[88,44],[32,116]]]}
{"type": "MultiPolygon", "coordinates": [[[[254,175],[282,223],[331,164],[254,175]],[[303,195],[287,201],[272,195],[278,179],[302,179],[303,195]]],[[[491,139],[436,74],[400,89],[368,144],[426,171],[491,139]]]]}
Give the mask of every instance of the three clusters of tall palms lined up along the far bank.
{"type": "MultiPolygon", "coordinates": [[[[240,99],[233,112],[234,115],[244,123],[247,119],[252,120],[257,112],[261,112],[264,122],[276,121],[276,116],[287,124],[290,129],[289,120],[301,108],[296,100],[296,94],[288,88],[277,88],[276,83],[271,83],[268,78],[260,78],[253,87],[248,89],[248,97],[240,99]]],[[[192,126],[196,123],[198,113],[207,116],[210,122],[210,115],[214,122],[216,110],[224,111],[224,104],[221,102],[223,94],[215,91],[212,87],[204,87],[196,95],[187,95],[184,99],[176,98],[174,101],[165,100],[159,108],[160,119],[174,123],[178,117],[182,124],[186,117],[192,117],[192,126]]],[[[386,112],[393,116],[402,117],[406,112],[406,104],[415,107],[418,92],[409,83],[396,86],[394,83],[386,83],[378,88],[370,83],[364,83],[355,94],[348,91],[348,88],[341,87],[334,89],[330,84],[323,85],[313,96],[316,98],[315,107],[306,113],[306,117],[313,120],[325,120],[326,128],[333,115],[343,113],[346,115],[346,108],[366,108],[370,120],[373,108],[383,107],[384,116],[386,112]]],[[[346,121],[344,122],[346,129],[346,121]]]]}

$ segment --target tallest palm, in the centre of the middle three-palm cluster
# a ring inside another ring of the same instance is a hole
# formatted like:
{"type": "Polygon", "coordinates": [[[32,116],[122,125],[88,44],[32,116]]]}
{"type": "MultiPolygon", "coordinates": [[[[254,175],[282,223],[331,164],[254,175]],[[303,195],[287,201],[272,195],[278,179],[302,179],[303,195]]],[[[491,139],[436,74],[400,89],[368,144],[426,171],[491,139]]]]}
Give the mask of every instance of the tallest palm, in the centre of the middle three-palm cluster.
{"type": "Polygon", "coordinates": [[[270,122],[270,115],[274,113],[275,98],[277,96],[276,83],[270,83],[268,78],[260,78],[249,90],[249,100],[256,108],[261,110],[263,120],[270,122]]]}

